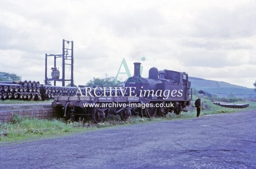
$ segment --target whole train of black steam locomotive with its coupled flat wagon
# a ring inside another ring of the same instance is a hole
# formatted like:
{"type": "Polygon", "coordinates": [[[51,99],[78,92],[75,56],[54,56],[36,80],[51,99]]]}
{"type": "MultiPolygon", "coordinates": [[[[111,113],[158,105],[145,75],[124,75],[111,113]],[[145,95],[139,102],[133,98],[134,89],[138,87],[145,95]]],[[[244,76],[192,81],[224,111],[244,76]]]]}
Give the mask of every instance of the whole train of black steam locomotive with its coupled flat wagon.
{"type": "Polygon", "coordinates": [[[188,74],[150,68],[148,78],[143,78],[140,65],[134,63],[134,76],[125,80],[122,88],[78,88],[76,95],[54,96],[52,107],[62,107],[64,117],[70,120],[85,116],[93,118],[95,123],[100,123],[108,114],[118,114],[127,120],[131,115],[152,118],[156,114],[186,112],[192,99],[188,74]]]}

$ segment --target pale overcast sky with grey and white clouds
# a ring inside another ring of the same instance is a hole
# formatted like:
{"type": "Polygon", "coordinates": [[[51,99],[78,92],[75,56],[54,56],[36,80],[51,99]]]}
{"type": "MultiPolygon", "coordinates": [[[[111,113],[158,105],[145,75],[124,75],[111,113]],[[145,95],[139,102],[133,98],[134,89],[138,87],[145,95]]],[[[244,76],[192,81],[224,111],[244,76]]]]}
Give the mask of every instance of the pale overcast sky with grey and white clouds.
{"type": "Polygon", "coordinates": [[[123,58],[131,74],[141,62],[143,77],[156,67],[249,88],[256,80],[256,0],[0,1],[0,71],[43,83],[45,54],[61,54],[63,39],[74,41],[75,85],[116,76],[123,58]]]}

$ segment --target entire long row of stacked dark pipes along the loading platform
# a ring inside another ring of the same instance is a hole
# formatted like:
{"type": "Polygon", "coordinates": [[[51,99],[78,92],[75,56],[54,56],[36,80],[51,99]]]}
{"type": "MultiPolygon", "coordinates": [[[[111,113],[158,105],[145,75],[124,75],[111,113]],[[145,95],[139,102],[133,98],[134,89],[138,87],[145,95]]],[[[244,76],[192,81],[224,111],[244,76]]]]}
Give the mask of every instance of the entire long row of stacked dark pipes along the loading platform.
{"type": "MultiPolygon", "coordinates": [[[[77,94],[77,90],[78,87],[40,85],[39,82],[35,81],[1,81],[0,99],[47,100],[54,98],[54,96],[74,96],[77,94]]],[[[85,88],[81,87],[80,90],[82,95],[85,95],[85,88]]],[[[90,89],[88,88],[88,90],[90,89]]],[[[95,88],[91,89],[90,93],[92,96],[100,96],[104,95],[104,90],[95,88]]],[[[122,96],[124,90],[106,89],[105,93],[106,96],[122,96]]]]}

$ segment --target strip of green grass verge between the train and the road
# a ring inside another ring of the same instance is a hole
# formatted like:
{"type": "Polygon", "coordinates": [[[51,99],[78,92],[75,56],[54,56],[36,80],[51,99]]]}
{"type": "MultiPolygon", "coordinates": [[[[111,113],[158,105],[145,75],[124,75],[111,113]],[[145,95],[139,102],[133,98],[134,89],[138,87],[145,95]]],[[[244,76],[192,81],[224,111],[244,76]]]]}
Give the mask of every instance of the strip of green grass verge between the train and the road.
{"type": "MultiPolygon", "coordinates": [[[[216,106],[208,100],[203,101],[205,104],[208,105],[208,110],[202,110],[200,116],[204,116],[207,114],[232,113],[256,109],[256,102],[246,102],[250,104],[249,107],[243,109],[234,109],[216,106]]],[[[52,135],[64,135],[66,133],[89,131],[103,127],[193,118],[195,116],[196,110],[191,110],[189,112],[182,112],[180,115],[168,114],[166,117],[140,118],[132,116],[128,118],[126,122],[124,122],[121,121],[119,116],[108,115],[108,117],[102,123],[99,123],[97,125],[91,125],[92,121],[84,123],[82,120],[80,120],[74,123],[67,123],[67,121],[64,121],[63,119],[42,120],[36,118],[21,118],[20,116],[15,114],[12,122],[0,123],[0,142],[13,142],[32,138],[44,138],[52,135]]]]}

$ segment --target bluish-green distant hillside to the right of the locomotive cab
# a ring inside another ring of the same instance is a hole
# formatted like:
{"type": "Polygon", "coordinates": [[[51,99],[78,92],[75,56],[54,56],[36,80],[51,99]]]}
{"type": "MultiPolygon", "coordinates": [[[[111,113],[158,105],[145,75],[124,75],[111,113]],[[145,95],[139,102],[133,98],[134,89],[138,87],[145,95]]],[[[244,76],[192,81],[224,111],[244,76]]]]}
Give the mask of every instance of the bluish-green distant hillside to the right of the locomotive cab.
{"type": "Polygon", "coordinates": [[[191,82],[191,88],[194,88],[197,91],[202,90],[207,93],[215,94],[218,97],[256,98],[254,89],[247,87],[195,77],[189,77],[189,81],[191,82]]]}

